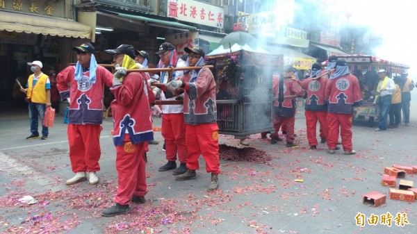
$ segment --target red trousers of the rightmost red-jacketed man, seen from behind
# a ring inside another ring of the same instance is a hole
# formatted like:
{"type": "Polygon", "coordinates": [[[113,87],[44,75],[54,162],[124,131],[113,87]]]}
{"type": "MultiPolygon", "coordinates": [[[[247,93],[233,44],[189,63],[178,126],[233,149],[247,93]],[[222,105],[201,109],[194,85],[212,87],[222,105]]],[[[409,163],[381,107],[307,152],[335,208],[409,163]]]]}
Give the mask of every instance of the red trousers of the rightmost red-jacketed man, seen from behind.
{"type": "Polygon", "coordinates": [[[329,126],[327,147],[336,148],[340,127],[343,150],[352,151],[352,115],[328,112],[327,125],[329,126]]]}

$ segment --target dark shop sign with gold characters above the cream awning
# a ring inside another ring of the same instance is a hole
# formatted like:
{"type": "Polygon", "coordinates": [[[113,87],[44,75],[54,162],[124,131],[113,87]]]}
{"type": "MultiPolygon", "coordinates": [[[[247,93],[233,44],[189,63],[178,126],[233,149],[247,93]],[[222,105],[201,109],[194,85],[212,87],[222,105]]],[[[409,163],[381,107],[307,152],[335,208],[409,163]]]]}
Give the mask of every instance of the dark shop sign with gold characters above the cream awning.
{"type": "Polygon", "coordinates": [[[0,0],[0,10],[65,18],[65,1],[0,0]]]}

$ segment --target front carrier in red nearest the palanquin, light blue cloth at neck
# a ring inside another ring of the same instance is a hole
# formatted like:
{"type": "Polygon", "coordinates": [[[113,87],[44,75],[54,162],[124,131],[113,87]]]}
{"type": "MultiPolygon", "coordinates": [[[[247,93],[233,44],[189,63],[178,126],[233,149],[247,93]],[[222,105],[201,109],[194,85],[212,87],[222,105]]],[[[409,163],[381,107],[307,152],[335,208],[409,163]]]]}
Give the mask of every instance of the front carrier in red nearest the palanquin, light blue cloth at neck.
{"type": "MultiPolygon", "coordinates": [[[[199,47],[184,49],[188,53],[189,67],[204,65],[204,50],[199,47]]],[[[219,187],[219,128],[216,122],[215,81],[210,69],[204,67],[190,70],[166,85],[165,95],[170,97],[184,93],[184,119],[186,122],[186,143],[188,149],[187,171],[175,178],[176,181],[195,179],[199,169],[200,154],[206,161],[206,172],[211,173],[208,191],[219,187]],[[170,92],[169,92],[170,91],[170,92]],[[172,92],[172,93],[171,93],[172,92]]]]}

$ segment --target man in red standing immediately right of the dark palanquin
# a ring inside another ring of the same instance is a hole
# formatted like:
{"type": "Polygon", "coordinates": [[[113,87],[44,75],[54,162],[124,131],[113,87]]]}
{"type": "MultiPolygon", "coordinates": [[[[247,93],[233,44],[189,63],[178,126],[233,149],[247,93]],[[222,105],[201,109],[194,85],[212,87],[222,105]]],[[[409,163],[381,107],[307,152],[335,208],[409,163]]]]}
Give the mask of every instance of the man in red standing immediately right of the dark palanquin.
{"type": "MultiPolygon", "coordinates": [[[[294,72],[294,67],[288,65],[284,68],[283,77],[275,76],[275,78],[272,79],[272,81],[275,81],[274,83],[272,83],[272,90],[275,94],[275,97],[279,97],[280,91],[284,94],[284,97],[290,95],[304,97],[304,90],[302,90],[300,84],[297,83],[294,72]]],[[[272,123],[275,128],[275,134],[278,133],[281,125],[285,124],[286,147],[298,147],[297,144],[294,143],[294,124],[296,108],[297,101],[295,99],[284,99],[274,101],[275,118],[273,119],[272,123]]]]}

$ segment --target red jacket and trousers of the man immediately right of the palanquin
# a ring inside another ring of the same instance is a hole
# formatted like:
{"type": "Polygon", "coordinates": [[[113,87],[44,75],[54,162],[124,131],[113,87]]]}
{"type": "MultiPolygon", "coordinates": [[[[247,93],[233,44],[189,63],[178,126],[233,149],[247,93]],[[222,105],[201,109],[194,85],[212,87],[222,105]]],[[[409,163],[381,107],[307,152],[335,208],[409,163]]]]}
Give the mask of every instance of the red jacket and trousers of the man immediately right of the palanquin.
{"type": "MultiPolygon", "coordinates": [[[[275,97],[279,95],[279,80],[281,77],[276,76],[272,78],[272,91],[275,97]]],[[[299,83],[293,78],[284,78],[284,97],[290,95],[297,95],[304,97],[304,90],[299,83]]],[[[297,101],[295,99],[285,99],[282,103],[274,101],[274,119],[272,124],[275,128],[275,134],[278,133],[281,125],[285,125],[286,141],[294,142],[294,124],[295,111],[297,109],[297,101]]]]}

